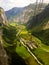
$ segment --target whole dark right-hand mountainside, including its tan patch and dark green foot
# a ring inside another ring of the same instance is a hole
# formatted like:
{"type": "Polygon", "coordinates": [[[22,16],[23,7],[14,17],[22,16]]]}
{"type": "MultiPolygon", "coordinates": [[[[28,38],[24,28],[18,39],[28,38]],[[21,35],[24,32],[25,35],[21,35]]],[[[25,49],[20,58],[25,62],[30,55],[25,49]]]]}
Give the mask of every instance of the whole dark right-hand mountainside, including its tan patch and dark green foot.
{"type": "Polygon", "coordinates": [[[49,45],[49,4],[27,23],[27,27],[42,43],[49,45]]]}

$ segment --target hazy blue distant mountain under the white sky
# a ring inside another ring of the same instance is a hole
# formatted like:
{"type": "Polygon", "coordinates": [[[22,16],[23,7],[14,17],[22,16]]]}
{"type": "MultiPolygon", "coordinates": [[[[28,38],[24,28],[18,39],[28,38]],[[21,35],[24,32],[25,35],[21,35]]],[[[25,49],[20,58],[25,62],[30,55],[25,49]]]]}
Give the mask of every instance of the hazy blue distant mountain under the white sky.
{"type": "Polygon", "coordinates": [[[11,17],[19,14],[20,12],[23,11],[24,8],[17,8],[17,7],[14,7],[8,11],[6,11],[6,16],[7,16],[7,19],[10,19],[11,17]]]}

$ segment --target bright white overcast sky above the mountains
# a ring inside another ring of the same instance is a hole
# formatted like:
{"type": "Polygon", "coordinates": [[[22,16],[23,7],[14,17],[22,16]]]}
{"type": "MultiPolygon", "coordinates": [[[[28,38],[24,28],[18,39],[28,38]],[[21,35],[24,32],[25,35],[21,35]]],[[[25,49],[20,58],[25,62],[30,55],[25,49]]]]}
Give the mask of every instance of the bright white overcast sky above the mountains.
{"type": "MultiPolygon", "coordinates": [[[[24,7],[30,3],[34,3],[36,0],[0,0],[0,7],[4,10],[9,10],[13,7],[24,7]]],[[[49,0],[44,0],[45,3],[49,3],[49,0]]]]}

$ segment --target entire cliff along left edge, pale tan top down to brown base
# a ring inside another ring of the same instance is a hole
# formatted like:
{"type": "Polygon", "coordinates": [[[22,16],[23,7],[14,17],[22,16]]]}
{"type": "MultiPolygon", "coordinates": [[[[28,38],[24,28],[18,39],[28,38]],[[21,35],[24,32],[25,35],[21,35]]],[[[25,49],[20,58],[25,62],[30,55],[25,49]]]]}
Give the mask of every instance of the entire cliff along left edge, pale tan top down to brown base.
{"type": "Polygon", "coordinates": [[[7,25],[7,19],[3,8],[0,7],[0,65],[8,65],[8,57],[2,46],[2,25],[7,25]]]}

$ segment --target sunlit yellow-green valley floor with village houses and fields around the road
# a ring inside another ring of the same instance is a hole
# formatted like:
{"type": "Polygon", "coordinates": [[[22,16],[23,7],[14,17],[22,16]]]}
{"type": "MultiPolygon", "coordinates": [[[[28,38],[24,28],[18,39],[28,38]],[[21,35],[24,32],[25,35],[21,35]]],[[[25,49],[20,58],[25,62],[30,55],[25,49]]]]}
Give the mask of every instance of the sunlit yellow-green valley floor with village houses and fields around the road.
{"type": "MultiPolygon", "coordinates": [[[[37,60],[41,63],[40,65],[49,65],[49,46],[42,43],[42,41],[36,36],[32,35],[24,25],[10,24],[18,29],[16,34],[16,53],[21,56],[27,65],[39,65],[37,60]],[[28,49],[22,44],[23,43],[30,49],[30,51],[36,56],[32,56],[28,49]],[[25,41],[25,42],[24,42],[25,41]]],[[[12,50],[13,51],[13,50],[12,50]]]]}

